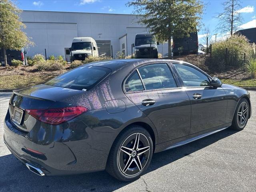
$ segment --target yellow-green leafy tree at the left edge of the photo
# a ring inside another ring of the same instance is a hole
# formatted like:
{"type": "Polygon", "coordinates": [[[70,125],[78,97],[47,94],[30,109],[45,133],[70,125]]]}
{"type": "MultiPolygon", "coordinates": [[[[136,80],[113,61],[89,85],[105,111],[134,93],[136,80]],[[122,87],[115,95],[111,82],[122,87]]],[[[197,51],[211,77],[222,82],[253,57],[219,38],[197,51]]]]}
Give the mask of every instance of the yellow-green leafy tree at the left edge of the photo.
{"type": "Polygon", "coordinates": [[[0,48],[4,51],[4,63],[7,64],[6,50],[20,50],[33,45],[22,29],[26,26],[19,20],[21,10],[11,0],[0,0],[0,48]]]}

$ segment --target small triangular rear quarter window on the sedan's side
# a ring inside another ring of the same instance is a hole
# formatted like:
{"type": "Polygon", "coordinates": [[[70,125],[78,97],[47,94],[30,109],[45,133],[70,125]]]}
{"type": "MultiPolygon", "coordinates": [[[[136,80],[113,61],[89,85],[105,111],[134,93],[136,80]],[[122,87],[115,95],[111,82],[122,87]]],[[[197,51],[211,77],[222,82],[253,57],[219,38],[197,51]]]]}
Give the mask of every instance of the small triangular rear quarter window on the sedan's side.
{"type": "Polygon", "coordinates": [[[137,70],[132,72],[132,74],[127,78],[124,86],[126,92],[144,90],[137,70]]]}

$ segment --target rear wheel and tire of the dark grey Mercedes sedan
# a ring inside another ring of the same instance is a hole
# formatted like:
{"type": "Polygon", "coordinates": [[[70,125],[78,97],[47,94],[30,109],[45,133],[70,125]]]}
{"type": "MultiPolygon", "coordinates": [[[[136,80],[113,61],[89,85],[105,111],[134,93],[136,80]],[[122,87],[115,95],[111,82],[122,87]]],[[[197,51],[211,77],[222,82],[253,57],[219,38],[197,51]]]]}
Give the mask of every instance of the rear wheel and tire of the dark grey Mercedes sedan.
{"type": "Polygon", "coordinates": [[[124,182],[136,180],[147,170],[152,154],[153,142],[148,131],[130,126],[113,143],[106,171],[124,182]]]}

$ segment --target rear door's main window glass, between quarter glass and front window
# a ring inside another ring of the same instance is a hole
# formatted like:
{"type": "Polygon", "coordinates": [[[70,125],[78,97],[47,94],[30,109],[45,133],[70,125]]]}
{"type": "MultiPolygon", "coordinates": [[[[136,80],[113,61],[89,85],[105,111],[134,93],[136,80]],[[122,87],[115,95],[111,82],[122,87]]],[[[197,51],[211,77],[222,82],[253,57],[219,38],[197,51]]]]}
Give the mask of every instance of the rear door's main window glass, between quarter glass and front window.
{"type": "Polygon", "coordinates": [[[177,87],[167,64],[150,64],[138,70],[146,90],[177,87]]]}

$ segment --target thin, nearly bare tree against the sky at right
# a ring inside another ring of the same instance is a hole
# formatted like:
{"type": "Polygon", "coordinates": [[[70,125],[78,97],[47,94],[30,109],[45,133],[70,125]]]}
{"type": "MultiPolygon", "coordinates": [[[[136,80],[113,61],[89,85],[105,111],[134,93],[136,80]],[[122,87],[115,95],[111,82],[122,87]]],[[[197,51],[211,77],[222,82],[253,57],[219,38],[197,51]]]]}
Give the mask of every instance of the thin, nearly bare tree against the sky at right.
{"type": "Polygon", "coordinates": [[[220,20],[216,30],[223,34],[233,35],[238,30],[238,26],[242,24],[242,17],[239,9],[242,8],[240,0],[226,0],[222,3],[224,11],[219,13],[217,18],[220,20]]]}

